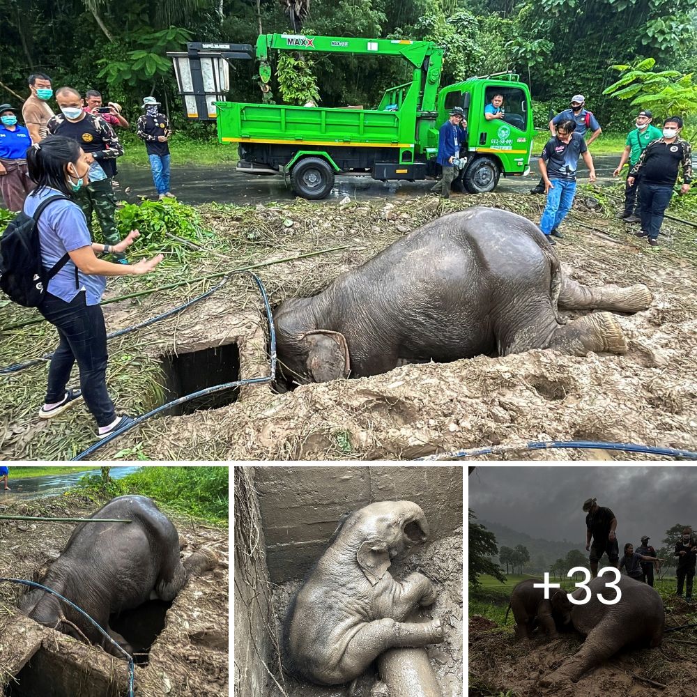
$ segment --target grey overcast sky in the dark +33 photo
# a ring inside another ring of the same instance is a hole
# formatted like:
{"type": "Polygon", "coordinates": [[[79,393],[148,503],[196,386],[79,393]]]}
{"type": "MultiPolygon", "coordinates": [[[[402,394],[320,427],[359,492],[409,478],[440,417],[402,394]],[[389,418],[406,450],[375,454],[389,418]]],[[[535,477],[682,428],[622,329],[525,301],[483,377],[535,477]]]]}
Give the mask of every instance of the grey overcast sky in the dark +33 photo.
{"type": "Polygon", "coordinates": [[[675,523],[697,526],[697,466],[477,466],[469,476],[477,518],[552,541],[585,544],[587,498],[617,517],[620,549],[642,535],[659,547],[675,523]]]}

